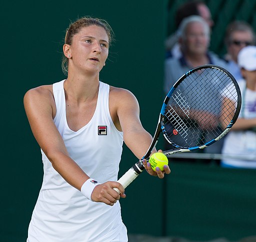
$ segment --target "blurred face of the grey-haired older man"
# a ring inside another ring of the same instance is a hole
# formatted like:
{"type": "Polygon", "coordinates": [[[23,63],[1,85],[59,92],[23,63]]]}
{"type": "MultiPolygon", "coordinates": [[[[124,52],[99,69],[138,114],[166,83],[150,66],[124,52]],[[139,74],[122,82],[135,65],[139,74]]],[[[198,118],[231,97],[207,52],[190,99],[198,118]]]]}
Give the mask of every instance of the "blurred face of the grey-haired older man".
{"type": "Polygon", "coordinates": [[[209,38],[205,28],[200,22],[190,22],[186,26],[184,46],[190,54],[205,54],[208,48],[209,38]]]}

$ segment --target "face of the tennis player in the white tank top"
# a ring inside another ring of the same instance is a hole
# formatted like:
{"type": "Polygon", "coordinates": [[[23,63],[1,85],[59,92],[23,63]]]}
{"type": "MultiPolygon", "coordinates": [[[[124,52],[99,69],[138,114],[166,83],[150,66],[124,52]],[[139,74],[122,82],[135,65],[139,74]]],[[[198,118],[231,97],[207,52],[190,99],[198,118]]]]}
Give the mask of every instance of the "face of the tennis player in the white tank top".
{"type": "Polygon", "coordinates": [[[108,46],[108,36],[104,28],[96,25],[83,27],[73,36],[70,64],[76,69],[99,72],[107,58],[108,46]]]}

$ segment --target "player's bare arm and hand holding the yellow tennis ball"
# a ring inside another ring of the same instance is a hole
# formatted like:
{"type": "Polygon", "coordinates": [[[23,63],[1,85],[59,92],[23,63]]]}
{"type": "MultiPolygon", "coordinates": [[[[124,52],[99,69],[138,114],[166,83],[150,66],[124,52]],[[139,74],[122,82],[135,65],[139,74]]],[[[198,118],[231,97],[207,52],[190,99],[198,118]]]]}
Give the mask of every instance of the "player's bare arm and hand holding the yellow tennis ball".
{"type": "MultiPolygon", "coordinates": [[[[124,89],[115,89],[114,95],[111,95],[113,103],[116,103],[116,114],[117,120],[115,125],[123,132],[123,140],[126,146],[132,151],[132,153],[138,158],[144,156],[147,149],[149,148],[152,136],[142,127],[139,119],[139,105],[135,96],[124,89]]],[[[163,172],[154,172],[151,169],[149,163],[145,161],[144,167],[150,175],[158,176],[163,178],[164,173],[169,173],[169,167],[163,172]]]]}

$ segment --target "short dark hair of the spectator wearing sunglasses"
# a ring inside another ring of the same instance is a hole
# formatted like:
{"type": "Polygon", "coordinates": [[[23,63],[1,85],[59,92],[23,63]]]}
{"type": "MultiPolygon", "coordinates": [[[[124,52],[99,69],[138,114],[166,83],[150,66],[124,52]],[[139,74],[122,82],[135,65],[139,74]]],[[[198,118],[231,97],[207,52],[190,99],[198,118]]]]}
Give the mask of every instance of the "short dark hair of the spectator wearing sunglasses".
{"type": "Polygon", "coordinates": [[[253,28],[245,21],[234,20],[233,22],[229,23],[226,28],[225,38],[224,38],[224,42],[225,42],[226,46],[228,46],[230,44],[230,42],[232,41],[231,35],[233,32],[236,32],[236,31],[251,32],[251,34],[252,34],[252,43],[251,44],[253,44],[253,45],[255,44],[256,35],[255,35],[253,28]]]}

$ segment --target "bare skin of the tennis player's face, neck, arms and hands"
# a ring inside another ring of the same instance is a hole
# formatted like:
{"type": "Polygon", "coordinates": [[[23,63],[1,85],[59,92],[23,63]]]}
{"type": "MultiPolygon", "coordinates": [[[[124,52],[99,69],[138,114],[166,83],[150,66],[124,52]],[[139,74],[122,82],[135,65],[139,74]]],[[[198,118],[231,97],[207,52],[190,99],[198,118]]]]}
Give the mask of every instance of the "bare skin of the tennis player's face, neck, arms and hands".
{"type": "MultiPolygon", "coordinates": [[[[73,131],[86,125],[94,114],[99,72],[105,65],[108,48],[105,29],[96,25],[81,28],[73,36],[70,45],[63,45],[63,53],[68,58],[68,75],[64,81],[66,120],[73,131]]],[[[24,107],[33,135],[52,167],[67,183],[80,190],[89,177],[69,157],[64,141],[53,122],[56,106],[52,85],[27,91],[24,96],[24,107]]],[[[123,132],[125,144],[140,159],[148,149],[152,137],[140,123],[136,98],[125,89],[110,86],[109,112],[115,127],[123,132]]],[[[159,178],[163,178],[164,173],[170,173],[168,166],[163,172],[154,172],[146,164],[145,167],[150,175],[159,178]]],[[[96,186],[91,194],[93,201],[110,206],[113,206],[120,197],[125,198],[124,188],[112,181],[96,186]],[[113,188],[117,188],[120,195],[113,188]]]]}

